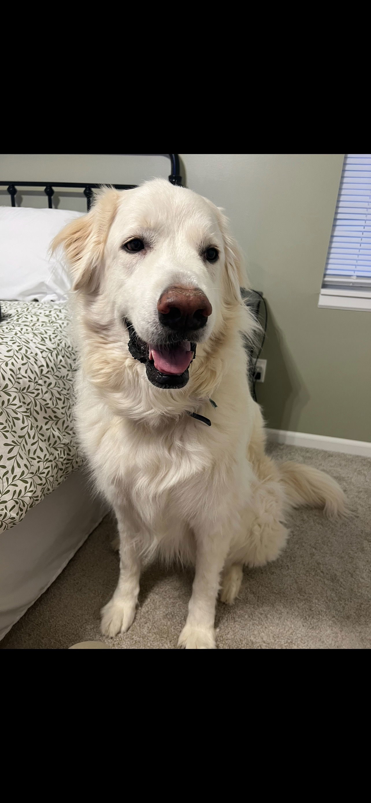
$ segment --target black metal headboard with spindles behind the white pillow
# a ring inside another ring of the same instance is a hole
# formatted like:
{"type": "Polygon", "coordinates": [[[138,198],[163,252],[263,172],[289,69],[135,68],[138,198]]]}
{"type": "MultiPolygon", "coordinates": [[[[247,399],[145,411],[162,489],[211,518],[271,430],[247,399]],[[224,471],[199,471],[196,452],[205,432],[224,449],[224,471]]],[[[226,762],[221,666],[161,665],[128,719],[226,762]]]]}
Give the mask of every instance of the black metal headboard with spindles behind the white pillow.
{"type": "MultiPolygon", "coordinates": [[[[113,155],[113,154],[111,154],[113,155]]],[[[115,156],[164,156],[163,153],[117,153],[115,156]]],[[[181,175],[179,173],[179,157],[177,153],[166,153],[166,156],[169,157],[171,161],[171,173],[169,175],[169,181],[171,184],[176,184],[177,186],[181,185],[181,175]]],[[[75,181],[0,181],[0,186],[6,186],[8,193],[10,194],[11,198],[11,205],[15,206],[15,196],[18,193],[18,187],[44,187],[44,193],[47,195],[47,205],[49,209],[52,209],[51,198],[54,195],[53,187],[67,187],[68,189],[75,189],[75,188],[83,188],[84,187],[84,196],[86,198],[88,211],[90,209],[92,203],[92,194],[93,190],[96,190],[101,186],[101,184],[92,184],[83,183],[80,184],[79,182],[76,183],[75,181]]],[[[110,186],[115,187],[116,190],[133,190],[137,184],[110,184],[110,186]]]]}

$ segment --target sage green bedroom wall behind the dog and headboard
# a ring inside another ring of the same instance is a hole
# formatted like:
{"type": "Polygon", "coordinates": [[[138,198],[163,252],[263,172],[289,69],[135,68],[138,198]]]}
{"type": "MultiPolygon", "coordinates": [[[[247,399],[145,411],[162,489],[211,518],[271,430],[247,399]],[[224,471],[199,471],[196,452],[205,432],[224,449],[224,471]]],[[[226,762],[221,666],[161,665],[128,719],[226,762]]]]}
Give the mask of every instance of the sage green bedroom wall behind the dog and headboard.
{"type": "MultiPolygon", "coordinates": [[[[317,307],[343,157],[185,153],[181,165],[186,185],[226,210],[251,286],[267,299],[267,374],[257,385],[267,425],[371,441],[371,314],[317,307]]],[[[0,157],[0,178],[11,180],[136,184],[168,174],[165,157],[0,157]]],[[[85,208],[81,194],[56,194],[55,202],[85,208]]],[[[22,204],[45,206],[45,196],[23,191],[22,204]]]]}

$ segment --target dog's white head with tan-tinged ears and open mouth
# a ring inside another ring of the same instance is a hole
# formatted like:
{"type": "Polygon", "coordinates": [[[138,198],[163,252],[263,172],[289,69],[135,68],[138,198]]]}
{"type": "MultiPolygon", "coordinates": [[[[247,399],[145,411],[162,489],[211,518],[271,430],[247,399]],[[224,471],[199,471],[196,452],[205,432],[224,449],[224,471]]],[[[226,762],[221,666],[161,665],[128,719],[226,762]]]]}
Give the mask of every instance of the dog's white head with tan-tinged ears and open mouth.
{"type": "Polygon", "coordinates": [[[186,385],[197,344],[218,337],[241,304],[246,283],[221,210],[162,179],[103,190],[53,247],[61,244],[72,290],[92,319],[126,328],[130,353],[157,387],[186,385]]]}

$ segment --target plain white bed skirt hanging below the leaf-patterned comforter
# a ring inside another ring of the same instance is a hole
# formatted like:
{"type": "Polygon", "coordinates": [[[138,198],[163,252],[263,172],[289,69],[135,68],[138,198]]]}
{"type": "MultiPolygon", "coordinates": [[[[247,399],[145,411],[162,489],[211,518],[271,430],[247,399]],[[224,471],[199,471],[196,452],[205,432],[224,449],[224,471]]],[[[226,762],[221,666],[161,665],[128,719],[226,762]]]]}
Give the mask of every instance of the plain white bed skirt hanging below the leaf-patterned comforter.
{"type": "Polygon", "coordinates": [[[0,639],[58,577],[107,507],[81,470],[0,534],[0,639]]]}

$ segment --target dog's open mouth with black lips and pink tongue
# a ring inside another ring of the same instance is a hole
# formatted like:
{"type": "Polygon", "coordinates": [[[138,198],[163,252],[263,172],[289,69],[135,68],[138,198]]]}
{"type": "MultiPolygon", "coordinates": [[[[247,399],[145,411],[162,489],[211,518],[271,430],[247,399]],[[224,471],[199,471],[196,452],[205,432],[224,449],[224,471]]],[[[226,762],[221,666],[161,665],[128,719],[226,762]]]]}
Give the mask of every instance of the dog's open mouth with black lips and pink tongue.
{"type": "Polygon", "coordinates": [[[196,344],[178,340],[165,344],[145,343],[133,324],[126,321],[130,339],[128,350],[135,360],[145,363],[149,381],[157,388],[184,388],[190,379],[190,364],[196,354],[196,344]]]}

